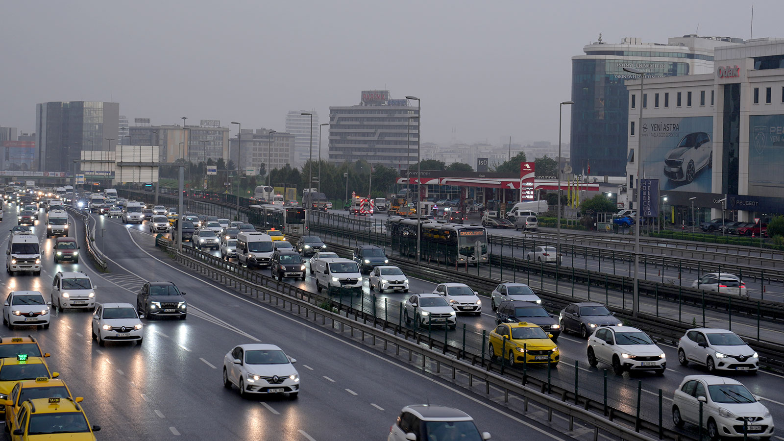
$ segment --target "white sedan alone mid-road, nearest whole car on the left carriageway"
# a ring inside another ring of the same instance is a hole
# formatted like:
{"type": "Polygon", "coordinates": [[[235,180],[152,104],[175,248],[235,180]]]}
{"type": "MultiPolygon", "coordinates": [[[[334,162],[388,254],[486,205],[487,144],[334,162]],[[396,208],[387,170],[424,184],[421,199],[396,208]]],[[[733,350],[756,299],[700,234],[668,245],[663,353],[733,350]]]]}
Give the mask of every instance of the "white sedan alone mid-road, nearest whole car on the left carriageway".
{"type": "Polygon", "coordinates": [[[235,385],[240,396],[250,394],[299,395],[299,373],[292,359],[274,344],[240,344],[223,357],[223,387],[235,385]]]}

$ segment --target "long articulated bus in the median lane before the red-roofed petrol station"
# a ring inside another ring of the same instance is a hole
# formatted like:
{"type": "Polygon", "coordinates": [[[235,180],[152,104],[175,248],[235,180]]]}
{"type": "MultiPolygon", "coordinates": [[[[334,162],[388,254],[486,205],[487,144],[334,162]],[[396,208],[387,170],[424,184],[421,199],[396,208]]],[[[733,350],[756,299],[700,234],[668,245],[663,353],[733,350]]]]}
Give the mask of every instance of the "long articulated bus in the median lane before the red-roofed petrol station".
{"type": "MultiPolygon", "coordinates": [[[[487,230],[481,225],[423,221],[420,253],[423,261],[446,264],[488,263],[487,230]]],[[[416,256],[416,219],[393,217],[389,221],[392,247],[401,254],[416,256]]]]}

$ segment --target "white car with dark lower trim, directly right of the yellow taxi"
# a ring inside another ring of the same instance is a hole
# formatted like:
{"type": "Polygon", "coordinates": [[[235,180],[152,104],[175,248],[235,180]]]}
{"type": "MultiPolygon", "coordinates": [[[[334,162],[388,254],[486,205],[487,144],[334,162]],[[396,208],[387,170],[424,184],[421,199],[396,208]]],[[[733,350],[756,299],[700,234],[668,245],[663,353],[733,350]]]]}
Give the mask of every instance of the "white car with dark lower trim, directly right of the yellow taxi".
{"type": "Polygon", "coordinates": [[[652,370],[664,374],[666,358],[647,333],[631,326],[599,326],[588,337],[588,364],[599,362],[612,365],[615,375],[624,371],[652,370]]]}

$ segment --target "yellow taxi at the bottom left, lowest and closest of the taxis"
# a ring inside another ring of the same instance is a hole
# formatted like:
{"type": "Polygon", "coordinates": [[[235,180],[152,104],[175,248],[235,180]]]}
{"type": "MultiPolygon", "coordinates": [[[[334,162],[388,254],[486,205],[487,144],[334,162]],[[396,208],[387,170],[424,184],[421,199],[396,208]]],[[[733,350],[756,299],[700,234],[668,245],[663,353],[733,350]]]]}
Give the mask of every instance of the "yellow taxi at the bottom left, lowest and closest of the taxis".
{"type": "Polygon", "coordinates": [[[28,399],[8,426],[12,441],[93,441],[93,432],[99,430],[98,425],[90,426],[82,406],[67,397],[28,399]]]}

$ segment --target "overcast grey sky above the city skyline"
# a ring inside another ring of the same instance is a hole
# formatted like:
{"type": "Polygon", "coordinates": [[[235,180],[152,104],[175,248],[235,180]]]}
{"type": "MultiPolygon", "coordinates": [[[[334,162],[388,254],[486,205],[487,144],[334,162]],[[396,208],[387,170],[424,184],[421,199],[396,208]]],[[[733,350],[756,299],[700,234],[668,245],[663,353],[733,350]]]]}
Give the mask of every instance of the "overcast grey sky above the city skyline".
{"type": "MultiPolygon", "coordinates": [[[[749,38],[750,16],[737,0],[2,2],[0,126],[33,131],[36,103],[113,100],[131,124],[282,131],[289,110],[328,122],[389,89],[422,99],[423,141],[557,142],[571,57],[600,32],[749,38]]],[[[754,2],[753,36],[784,37],[782,16],[781,0],[754,2]]]]}

